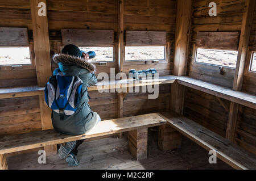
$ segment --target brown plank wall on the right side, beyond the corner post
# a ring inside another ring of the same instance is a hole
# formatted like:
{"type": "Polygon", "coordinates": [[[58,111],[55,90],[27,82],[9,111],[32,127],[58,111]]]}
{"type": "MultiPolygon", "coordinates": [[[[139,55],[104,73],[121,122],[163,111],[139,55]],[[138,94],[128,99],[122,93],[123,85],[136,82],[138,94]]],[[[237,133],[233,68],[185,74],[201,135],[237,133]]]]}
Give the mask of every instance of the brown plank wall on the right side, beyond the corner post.
{"type": "MultiPolygon", "coordinates": [[[[210,17],[208,15],[208,1],[193,1],[187,74],[193,78],[232,88],[234,69],[224,69],[224,75],[221,75],[218,73],[218,67],[192,64],[197,32],[241,31],[244,1],[215,2],[217,3],[217,16],[210,17]]],[[[255,31],[256,6],[249,46],[256,44],[255,31]]],[[[250,61],[250,58],[246,58],[246,61],[250,61]]],[[[255,74],[246,74],[246,71],[242,90],[255,94],[256,76],[255,74]]],[[[184,115],[223,137],[226,136],[229,107],[230,102],[228,100],[189,88],[185,90],[184,115]]],[[[256,150],[255,121],[255,110],[240,105],[235,142],[254,154],[256,150]]]]}

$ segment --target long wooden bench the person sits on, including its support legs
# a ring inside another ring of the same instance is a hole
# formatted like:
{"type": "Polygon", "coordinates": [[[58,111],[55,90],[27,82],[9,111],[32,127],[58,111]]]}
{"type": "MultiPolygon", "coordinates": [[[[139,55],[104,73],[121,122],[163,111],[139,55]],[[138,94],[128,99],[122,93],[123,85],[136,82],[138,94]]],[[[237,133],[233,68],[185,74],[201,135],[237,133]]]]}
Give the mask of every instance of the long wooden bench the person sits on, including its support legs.
{"type": "Polygon", "coordinates": [[[0,169],[7,169],[6,154],[47,145],[101,137],[113,133],[128,132],[129,150],[139,159],[147,158],[147,128],[166,124],[158,113],[105,120],[98,123],[92,131],[78,136],[55,132],[53,129],[0,138],[0,169]]]}

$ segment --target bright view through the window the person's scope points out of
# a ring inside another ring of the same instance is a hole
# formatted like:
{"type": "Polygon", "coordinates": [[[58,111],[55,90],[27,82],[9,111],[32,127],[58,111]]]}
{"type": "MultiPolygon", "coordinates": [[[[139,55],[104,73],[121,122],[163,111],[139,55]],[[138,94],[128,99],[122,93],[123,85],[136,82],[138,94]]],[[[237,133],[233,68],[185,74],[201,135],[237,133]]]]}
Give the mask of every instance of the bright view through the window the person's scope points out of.
{"type": "Polygon", "coordinates": [[[111,62],[114,61],[113,47],[79,47],[85,52],[94,51],[96,57],[90,59],[90,62],[111,62]]]}

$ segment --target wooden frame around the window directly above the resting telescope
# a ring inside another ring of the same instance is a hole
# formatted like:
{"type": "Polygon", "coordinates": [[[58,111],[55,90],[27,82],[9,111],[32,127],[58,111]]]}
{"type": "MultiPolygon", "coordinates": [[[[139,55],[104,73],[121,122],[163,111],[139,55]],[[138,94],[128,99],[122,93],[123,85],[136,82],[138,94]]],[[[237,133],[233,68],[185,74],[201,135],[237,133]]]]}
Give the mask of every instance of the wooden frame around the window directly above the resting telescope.
{"type": "MultiPolygon", "coordinates": [[[[124,45],[123,48],[123,54],[125,56],[125,48],[126,47],[162,47],[163,45],[142,45],[142,46],[130,46],[130,45],[124,45]]],[[[124,60],[123,65],[142,65],[142,64],[167,64],[169,61],[169,49],[170,49],[170,43],[167,42],[166,45],[164,45],[164,59],[156,59],[156,60],[124,60]]],[[[124,57],[125,58],[125,57],[124,57]]]]}

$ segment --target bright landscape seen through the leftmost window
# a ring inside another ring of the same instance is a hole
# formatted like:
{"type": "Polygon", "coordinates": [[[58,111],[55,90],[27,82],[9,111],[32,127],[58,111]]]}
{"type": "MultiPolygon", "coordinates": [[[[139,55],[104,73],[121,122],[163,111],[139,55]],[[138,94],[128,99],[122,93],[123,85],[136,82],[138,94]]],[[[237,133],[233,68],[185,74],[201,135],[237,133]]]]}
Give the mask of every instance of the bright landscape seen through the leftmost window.
{"type": "Polygon", "coordinates": [[[29,47],[1,47],[0,65],[31,64],[29,47]]]}

